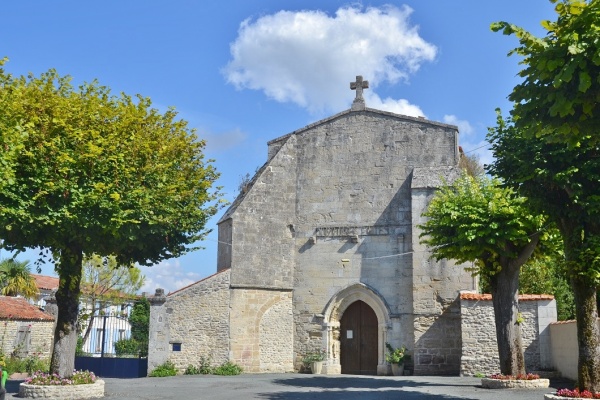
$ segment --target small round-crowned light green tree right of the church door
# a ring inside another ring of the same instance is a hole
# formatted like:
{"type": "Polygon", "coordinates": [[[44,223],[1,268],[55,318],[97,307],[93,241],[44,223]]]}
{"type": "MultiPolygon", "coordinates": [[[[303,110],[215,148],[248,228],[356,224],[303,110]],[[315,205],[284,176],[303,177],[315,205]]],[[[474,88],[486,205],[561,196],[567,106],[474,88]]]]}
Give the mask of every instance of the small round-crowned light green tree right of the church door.
{"type": "Polygon", "coordinates": [[[543,218],[529,213],[526,199],[485,175],[463,174],[440,188],[423,214],[421,242],[437,259],[474,263],[489,279],[500,372],[525,373],[518,322],[519,269],[533,253],[543,218]]]}

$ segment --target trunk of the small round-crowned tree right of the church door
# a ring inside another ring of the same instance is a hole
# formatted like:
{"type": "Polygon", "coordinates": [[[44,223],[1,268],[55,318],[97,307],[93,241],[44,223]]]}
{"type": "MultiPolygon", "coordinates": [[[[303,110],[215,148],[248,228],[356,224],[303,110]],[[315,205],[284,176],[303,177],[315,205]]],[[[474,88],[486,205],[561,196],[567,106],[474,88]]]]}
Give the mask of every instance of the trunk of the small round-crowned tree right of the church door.
{"type": "Polygon", "coordinates": [[[525,356],[519,325],[519,267],[503,266],[492,276],[492,302],[496,322],[496,340],[500,356],[500,373],[525,374],[525,356]]]}

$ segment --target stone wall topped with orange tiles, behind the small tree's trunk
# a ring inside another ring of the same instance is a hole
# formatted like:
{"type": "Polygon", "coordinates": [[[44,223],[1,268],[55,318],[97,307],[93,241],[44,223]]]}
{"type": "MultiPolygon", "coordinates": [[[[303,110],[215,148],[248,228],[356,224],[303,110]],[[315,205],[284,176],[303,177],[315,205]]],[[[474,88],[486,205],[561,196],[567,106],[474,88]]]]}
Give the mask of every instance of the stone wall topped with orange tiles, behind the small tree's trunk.
{"type": "MultiPolygon", "coordinates": [[[[461,376],[500,372],[491,295],[461,293],[461,376]]],[[[549,295],[519,296],[521,333],[528,372],[552,368],[549,325],[556,321],[556,301],[549,295]]]]}

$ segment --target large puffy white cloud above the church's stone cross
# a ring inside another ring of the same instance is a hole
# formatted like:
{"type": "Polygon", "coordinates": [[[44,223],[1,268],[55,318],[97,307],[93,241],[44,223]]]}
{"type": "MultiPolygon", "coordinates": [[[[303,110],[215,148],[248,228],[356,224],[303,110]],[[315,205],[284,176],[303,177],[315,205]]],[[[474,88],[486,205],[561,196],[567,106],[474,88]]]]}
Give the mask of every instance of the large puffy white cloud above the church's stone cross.
{"type": "MultiPolygon", "coordinates": [[[[408,6],[353,6],[334,16],[279,11],[247,19],[231,44],[232,60],[223,73],[239,89],[262,90],[311,112],[347,108],[354,97],[349,82],[362,74],[370,83],[367,107],[374,107],[369,101],[379,99],[373,94],[378,85],[406,81],[435,58],[436,47],[410,25],[411,13],[408,6]]],[[[406,100],[379,102],[390,110],[418,110],[406,100]]]]}

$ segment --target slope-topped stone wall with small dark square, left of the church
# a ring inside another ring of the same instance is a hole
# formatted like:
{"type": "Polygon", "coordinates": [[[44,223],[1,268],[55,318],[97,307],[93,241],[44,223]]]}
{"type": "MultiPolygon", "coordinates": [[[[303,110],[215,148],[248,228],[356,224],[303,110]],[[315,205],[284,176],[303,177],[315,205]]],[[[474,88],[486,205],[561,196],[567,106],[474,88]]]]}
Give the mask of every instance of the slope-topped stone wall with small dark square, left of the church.
{"type": "Polygon", "coordinates": [[[213,365],[229,360],[230,271],[150,300],[148,372],[167,360],[180,372],[198,366],[202,357],[213,365]]]}

